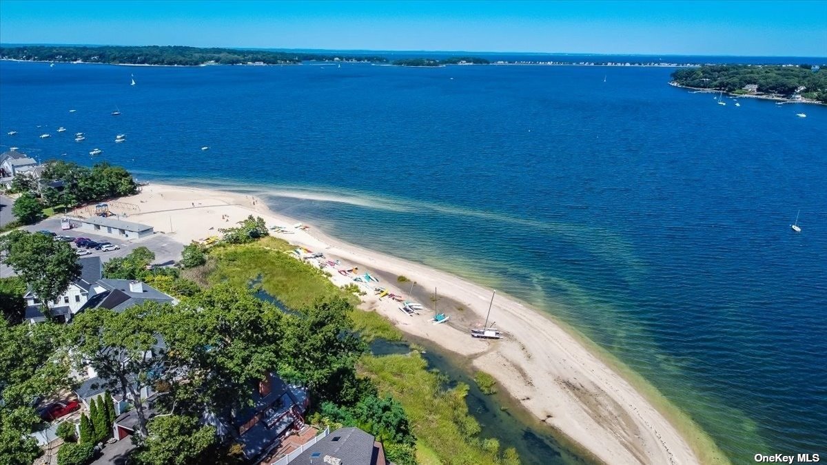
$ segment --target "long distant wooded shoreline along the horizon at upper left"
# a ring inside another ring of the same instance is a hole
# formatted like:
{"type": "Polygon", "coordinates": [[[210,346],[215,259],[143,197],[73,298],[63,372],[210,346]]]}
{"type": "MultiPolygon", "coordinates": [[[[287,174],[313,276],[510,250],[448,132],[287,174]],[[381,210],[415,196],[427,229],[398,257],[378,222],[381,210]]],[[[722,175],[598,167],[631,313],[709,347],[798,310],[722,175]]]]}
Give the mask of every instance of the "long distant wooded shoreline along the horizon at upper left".
{"type": "Polygon", "coordinates": [[[268,50],[234,50],[185,46],[14,46],[0,47],[7,60],[84,61],[109,65],[294,65],[302,61],[365,61],[384,63],[381,56],[327,55],[268,50]]]}

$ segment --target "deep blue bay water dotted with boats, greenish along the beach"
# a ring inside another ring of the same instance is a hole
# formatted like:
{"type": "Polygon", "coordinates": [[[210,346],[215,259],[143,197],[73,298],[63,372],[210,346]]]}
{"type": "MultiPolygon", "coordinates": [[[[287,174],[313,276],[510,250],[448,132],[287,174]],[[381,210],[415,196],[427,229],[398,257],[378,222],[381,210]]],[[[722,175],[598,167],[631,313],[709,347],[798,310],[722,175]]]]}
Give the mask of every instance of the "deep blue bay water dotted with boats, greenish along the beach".
{"type": "Polygon", "coordinates": [[[827,108],[671,71],[2,62],[0,144],[255,192],[565,320],[736,463],[825,453],[827,108]]]}

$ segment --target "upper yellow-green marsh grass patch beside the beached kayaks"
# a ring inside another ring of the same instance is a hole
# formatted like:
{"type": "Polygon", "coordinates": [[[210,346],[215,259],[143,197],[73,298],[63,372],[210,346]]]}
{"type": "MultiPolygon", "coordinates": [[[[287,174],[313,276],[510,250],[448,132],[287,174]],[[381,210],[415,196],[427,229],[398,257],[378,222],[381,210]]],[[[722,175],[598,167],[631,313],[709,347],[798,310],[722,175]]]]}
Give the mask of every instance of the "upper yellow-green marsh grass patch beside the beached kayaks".
{"type": "Polygon", "coordinates": [[[228,282],[249,286],[261,281],[261,287],[291,309],[303,309],[320,299],[345,297],[358,304],[355,295],[342,292],[323,271],[287,255],[293,250],[288,242],[275,237],[243,245],[222,245],[209,250],[214,269],[208,284],[228,282]]]}

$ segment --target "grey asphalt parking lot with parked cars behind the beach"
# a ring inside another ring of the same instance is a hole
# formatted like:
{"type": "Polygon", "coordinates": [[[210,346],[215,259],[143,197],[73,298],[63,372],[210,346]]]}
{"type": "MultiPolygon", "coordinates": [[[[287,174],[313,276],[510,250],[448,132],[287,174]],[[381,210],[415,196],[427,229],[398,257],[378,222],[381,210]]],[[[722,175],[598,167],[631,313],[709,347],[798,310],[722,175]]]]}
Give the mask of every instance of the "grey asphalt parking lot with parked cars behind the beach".
{"type": "MultiPolygon", "coordinates": [[[[88,231],[80,231],[74,229],[62,231],[60,229],[59,217],[47,218],[41,221],[41,223],[26,226],[24,229],[30,232],[36,232],[45,229],[51,232],[55,232],[59,236],[63,235],[69,237],[88,237],[95,242],[112,242],[112,244],[116,245],[117,247],[121,247],[120,249],[112,252],[101,252],[95,249],[89,249],[89,252],[92,253],[91,255],[87,256],[100,256],[101,261],[104,262],[117,256],[126,256],[129,254],[129,252],[135,250],[135,247],[143,246],[150,249],[152,252],[155,252],[155,261],[153,261],[154,265],[172,265],[174,262],[180,260],[181,251],[184,250],[183,245],[179,244],[178,242],[174,242],[168,237],[165,237],[165,234],[163,232],[155,232],[155,234],[153,234],[150,237],[125,241],[121,238],[102,236],[99,234],[93,234],[92,232],[88,231]]],[[[73,242],[69,242],[69,244],[72,247],[76,247],[73,242]]],[[[11,268],[6,266],[5,264],[0,264],[0,277],[12,276],[12,274],[13,271],[11,268]]]]}

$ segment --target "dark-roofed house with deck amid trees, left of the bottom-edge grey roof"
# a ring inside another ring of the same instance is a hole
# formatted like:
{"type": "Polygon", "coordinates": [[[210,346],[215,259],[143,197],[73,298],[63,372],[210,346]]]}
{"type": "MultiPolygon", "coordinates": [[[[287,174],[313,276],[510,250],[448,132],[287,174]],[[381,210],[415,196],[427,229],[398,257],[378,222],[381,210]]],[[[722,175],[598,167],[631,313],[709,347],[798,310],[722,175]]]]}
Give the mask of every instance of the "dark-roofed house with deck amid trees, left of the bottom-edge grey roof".
{"type": "Polygon", "coordinates": [[[232,415],[232,424],[213,412],[205,413],[202,421],[221,436],[237,437],[247,460],[258,461],[279,447],[286,435],[304,426],[309,400],[306,388],[288,385],[274,373],[258,383],[252,397],[250,407],[232,415]]]}

